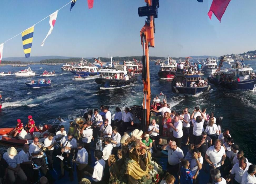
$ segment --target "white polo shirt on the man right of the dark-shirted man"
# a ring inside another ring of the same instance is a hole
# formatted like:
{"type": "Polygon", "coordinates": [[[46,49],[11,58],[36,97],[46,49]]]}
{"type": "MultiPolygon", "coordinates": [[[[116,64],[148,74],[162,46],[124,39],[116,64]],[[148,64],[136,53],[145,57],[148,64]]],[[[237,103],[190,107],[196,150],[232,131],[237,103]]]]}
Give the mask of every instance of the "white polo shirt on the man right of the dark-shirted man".
{"type": "Polygon", "coordinates": [[[222,156],[226,153],[223,146],[220,146],[220,150],[217,152],[213,145],[206,150],[206,154],[210,157],[210,161],[213,162],[216,167],[219,167],[221,166],[222,156]]]}

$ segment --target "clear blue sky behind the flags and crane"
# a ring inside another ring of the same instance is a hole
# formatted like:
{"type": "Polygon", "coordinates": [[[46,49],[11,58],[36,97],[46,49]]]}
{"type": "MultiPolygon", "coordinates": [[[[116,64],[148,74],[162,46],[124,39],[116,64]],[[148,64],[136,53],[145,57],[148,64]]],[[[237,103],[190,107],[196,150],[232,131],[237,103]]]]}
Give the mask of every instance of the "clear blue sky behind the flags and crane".
{"type": "MultiPolygon", "coordinates": [[[[69,0],[0,1],[0,44],[60,9],[69,0]]],[[[207,13],[212,0],[160,0],[155,19],[155,48],[150,56],[221,56],[256,50],[255,0],[231,0],[221,23],[207,13]]],[[[94,0],[88,9],[86,0],[77,0],[58,12],[53,31],[41,47],[50,29],[49,18],[35,25],[30,56],[67,57],[140,56],[140,30],[146,17],[138,16],[144,0],[94,0]]],[[[22,37],[4,44],[3,57],[23,57],[22,37]]]]}

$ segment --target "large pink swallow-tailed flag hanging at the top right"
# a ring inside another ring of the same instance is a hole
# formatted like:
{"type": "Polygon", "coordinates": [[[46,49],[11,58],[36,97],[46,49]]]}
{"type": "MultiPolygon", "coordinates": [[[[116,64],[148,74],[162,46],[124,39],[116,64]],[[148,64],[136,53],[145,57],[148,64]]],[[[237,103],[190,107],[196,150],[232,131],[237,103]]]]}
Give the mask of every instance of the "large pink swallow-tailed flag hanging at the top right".
{"type": "Polygon", "coordinates": [[[230,1],[231,0],[213,0],[210,10],[208,12],[209,18],[211,19],[211,16],[214,13],[214,15],[220,21],[230,1]]]}

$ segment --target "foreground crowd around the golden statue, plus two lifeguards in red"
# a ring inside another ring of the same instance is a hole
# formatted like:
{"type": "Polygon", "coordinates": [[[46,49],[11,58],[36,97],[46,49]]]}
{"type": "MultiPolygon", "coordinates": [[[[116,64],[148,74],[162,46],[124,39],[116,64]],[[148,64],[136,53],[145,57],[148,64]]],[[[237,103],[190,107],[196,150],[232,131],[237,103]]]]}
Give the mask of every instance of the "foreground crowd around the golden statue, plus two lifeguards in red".
{"type": "MultiPolygon", "coordinates": [[[[161,100],[157,97],[155,103],[161,100]]],[[[45,176],[39,183],[53,183],[49,170],[57,166],[58,179],[68,175],[73,181],[76,168],[80,183],[140,183],[143,176],[148,176],[151,154],[163,150],[168,161],[161,184],[208,183],[199,181],[202,169],[209,173],[209,183],[256,183],[256,165],[244,157],[229,129],[222,132],[221,118],[214,117],[214,113],[207,114],[205,108],[199,107],[191,112],[184,108],[178,113],[168,108],[165,100],[160,109],[151,111],[162,115],[162,122],[152,119],[147,131],[142,132],[136,129],[129,108],[121,112],[116,107],[111,120],[109,107],[101,105],[100,109],[85,113],[82,126],[71,121],[66,132],[60,125],[56,134],[48,134],[43,142],[33,137],[32,144],[25,144],[19,153],[9,147],[0,162],[0,178],[7,183],[35,183],[39,181],[39,171],[41,177],[45,176]],[[55,162],[59,164],[54,165],[55,162]],[[33,169],[35,164],[39,170],[33,169]]],[[[25,128],[33,135],[35,121],[31,115],[25,128]]],[[[22,131],[23,123],[18,119],[13,136],[22,131]]]]}

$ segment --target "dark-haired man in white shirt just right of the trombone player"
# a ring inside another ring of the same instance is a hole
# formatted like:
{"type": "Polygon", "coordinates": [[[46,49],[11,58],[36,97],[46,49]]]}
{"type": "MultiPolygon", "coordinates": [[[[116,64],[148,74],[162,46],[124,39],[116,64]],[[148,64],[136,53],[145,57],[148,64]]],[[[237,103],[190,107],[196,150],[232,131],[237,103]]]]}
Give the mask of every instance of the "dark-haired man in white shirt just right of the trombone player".
{"type": "Polygon", "coordinates": [[[54,138],[54,134],[50,133],[48,137],[45,138],[45,141],[43,142],[45,147],[48,149],[45,154],[47,156],[47,161],[49,164],[49,168],[52,168],[53,160],[52,160],[52,154],[54,150],[54,145],[56,144],[56,140],[54,138]]]}

